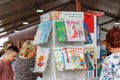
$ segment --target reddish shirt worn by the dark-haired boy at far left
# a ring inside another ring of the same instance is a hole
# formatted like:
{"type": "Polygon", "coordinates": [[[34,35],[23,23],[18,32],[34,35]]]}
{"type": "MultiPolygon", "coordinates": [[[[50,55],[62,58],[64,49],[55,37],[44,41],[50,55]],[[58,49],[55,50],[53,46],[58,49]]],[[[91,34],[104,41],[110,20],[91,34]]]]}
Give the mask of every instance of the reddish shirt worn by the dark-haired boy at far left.
{"type": "Polygon", "coordinates": [[[13,80],[12,66],[5,58],[0,60],[0,80],[13,80]]]}

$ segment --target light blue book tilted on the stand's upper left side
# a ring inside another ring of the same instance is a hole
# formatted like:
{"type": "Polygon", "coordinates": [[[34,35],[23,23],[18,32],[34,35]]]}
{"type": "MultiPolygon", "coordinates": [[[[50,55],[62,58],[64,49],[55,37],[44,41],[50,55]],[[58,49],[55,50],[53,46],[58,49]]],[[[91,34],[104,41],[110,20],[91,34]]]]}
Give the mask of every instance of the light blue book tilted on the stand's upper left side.
{"type": "Polygon", "coordinates": [[[42,22],[38,25],[38,29],[34,38],[34,44],[47,43],[51,31],[52,21],[42,22]]]}

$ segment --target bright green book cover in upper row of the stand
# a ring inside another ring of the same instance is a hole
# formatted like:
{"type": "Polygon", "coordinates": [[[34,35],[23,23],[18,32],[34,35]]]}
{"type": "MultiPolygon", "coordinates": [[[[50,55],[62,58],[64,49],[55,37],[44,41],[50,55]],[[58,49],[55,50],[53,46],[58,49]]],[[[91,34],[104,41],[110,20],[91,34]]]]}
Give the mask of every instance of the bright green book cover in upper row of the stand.
{"type": "Polygon", "coordinates": [[[66,28],[64,21],[55,21],[55,27],[57,31],[58,41],[66,41],[66,28]]]}

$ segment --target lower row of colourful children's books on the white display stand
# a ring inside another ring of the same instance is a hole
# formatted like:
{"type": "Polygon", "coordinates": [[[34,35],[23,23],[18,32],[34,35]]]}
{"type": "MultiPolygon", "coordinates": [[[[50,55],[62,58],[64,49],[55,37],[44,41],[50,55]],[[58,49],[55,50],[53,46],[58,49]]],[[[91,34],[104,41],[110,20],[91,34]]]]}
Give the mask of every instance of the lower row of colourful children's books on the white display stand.
{"type": "MultiPolygon", "coordinates": [[[[83,47],[68,47],[53,49],[54,59],[56,62],[56,69],[58,71],[64,70],[78,70],[88,69],[93,70],[95,62],[95,48],[83,47]]],[[[37,72],[44,72],[48,59],[51,54],[50,48],[37,47],[36,67],[37,72]]]]}

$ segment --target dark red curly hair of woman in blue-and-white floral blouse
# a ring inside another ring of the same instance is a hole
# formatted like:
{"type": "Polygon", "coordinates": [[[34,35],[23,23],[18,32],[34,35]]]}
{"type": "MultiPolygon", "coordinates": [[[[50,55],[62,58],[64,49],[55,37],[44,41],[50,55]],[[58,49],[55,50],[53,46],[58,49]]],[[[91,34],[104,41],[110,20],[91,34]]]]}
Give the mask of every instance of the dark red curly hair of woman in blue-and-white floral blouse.
{"type": "Polygon", "coordinates": [[[112,48],[120,48],[120,28],[113,27],[106,35],[106,41],[112,48]]]}

